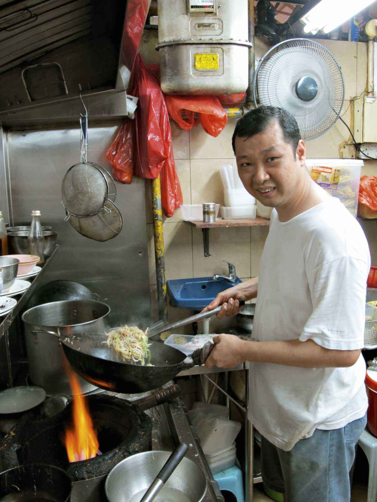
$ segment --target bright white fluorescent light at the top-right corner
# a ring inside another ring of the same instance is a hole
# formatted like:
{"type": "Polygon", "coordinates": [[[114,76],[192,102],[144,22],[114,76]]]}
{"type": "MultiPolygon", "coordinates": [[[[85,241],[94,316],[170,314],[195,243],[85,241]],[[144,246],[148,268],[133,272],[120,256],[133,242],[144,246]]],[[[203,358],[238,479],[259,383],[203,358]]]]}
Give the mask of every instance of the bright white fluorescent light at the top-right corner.
{"type": "Polygon", "coordinates": [[[342,25],[374,0],[321,0],[301,21],[304,32],[316,34],[319,30],[329,33],[342,25]]]}

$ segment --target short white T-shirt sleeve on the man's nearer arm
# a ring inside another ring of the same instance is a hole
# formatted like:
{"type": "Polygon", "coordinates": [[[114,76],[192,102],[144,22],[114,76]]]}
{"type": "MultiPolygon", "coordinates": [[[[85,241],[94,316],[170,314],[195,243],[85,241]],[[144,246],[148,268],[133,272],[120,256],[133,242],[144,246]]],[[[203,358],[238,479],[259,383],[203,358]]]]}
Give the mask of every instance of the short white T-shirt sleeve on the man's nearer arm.
{"type": "Polygon", "coordinates": [[[308,273],[313,313],[301,341],[313,340],[329,349],[364,347],[365,296],[368,264],[345,256],[308,273]]]}

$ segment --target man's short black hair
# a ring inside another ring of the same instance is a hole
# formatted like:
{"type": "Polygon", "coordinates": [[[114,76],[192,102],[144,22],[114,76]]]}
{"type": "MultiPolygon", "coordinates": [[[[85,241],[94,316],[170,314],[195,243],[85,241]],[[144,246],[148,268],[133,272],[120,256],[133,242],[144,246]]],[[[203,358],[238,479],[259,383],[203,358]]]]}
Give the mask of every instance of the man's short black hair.
{"type": "Polygon", "coordinates": [[[293,153],[296,155],[296,149],[301,140],[299,126],[296,118],[288,111],[276,106],[260,106],[248,111],[239,118],[232,137],[233,152],[236,154],[235,141],[238,138],[251,138],[255,134],[262,133],[269,124],[277,120],[284,134],[284,139],[292,146],[293,153]]]}

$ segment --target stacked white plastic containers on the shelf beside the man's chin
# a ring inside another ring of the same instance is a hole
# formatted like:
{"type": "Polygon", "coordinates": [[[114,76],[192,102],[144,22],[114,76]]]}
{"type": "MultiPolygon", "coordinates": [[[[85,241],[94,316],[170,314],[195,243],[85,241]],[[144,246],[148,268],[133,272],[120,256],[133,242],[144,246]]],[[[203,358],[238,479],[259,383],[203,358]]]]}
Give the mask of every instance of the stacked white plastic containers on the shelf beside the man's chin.
{"type": "Polygon", "coordinates": [[[226,164],[220,168],[224,186],[225,206],[220,207],[220,216],[224,219],[255,218],[255,198],[242,185],[237,168],[226,164]]]}

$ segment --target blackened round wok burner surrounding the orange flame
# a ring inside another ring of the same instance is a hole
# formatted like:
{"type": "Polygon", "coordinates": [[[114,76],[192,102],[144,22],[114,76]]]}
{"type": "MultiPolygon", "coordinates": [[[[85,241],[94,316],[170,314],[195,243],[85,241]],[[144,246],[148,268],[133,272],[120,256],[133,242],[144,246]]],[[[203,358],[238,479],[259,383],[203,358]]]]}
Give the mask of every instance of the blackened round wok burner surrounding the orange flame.
{"type": "Polygon", "coordinates": [[[52,418],[27,413],[4,439],[0,458],[4,469],[40,462],[66,470],[73,481],[107,474],[129,455],[148,450],[151,419],[131,403],[113,396],[89,396],[93,425],[102,455],[69,462],[63,444],[64,430],[71,422],[72,406],[52,418]]]}

